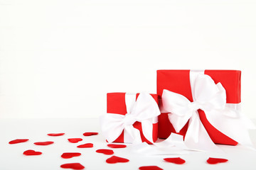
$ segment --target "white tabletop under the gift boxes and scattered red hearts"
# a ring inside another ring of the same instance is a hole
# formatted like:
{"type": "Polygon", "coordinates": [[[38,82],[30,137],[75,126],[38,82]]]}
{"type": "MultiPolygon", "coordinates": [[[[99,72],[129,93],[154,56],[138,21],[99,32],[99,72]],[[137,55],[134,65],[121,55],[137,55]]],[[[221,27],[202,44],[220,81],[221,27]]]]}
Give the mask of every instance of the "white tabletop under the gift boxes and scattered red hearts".
{"type": "MultiPolygon", "coordinates": [[[[256,122],[256,121],[254,121],[256,122]]],[[[164,162],[161,156],[145,156],[131,152],[131,145],[127,148],[113,149],[114,155],[129,159],[128,163],[107,164],[105,160],[112,155],[99,154],[97,149],[111,149],[107,147],[104,137],[99,134],[85,137],[84,132],[100,132],[97,119],[1,119],[0,120],[0,169],[46,170],[61,169],[61,164],[79,162],[85,169],[139,169],[139,166],[155,165],[162,169],[256,169],[256,152],[243,147],[220,146],[224,154],[218,155],[229,162],[224,164],[206,164],[206,159],[213,156],[206,152],[193,152],[180,155],[186,160],[185,164],[177,165],[164,162]],[[65,132],[59,137],[50,137],[48,133],[65,132]],[[68,142],[68,138],[80,137],[78,143],[68,142]],[[9,145],[15,139],[29,139],[28,142],[9,145]],[[53,141],[53,145],[38,146],[33,142],[53,141]],[[87,142],[92,142],[92,148],[77,148],[87,142]],[[23,152],[34,149],[43,152],[38,156],[25,156],[23,152]],[[80,157],[63,159],[63,152],[80,152],[80,157]]],[[[251,130],[252,142],[256,145],[256,130],[251,130]]]]}

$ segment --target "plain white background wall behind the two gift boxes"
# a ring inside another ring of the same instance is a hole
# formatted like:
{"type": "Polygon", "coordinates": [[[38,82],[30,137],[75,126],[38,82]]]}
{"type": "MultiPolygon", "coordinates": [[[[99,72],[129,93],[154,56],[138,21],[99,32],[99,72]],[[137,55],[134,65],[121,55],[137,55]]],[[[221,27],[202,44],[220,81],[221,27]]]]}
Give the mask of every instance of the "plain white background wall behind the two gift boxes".
{"type": "Polygon", "coordinates": [[[97,118],[156,69],[240,69],[256,118],[256,2],[0,0],[0,118],[97,118]]]}

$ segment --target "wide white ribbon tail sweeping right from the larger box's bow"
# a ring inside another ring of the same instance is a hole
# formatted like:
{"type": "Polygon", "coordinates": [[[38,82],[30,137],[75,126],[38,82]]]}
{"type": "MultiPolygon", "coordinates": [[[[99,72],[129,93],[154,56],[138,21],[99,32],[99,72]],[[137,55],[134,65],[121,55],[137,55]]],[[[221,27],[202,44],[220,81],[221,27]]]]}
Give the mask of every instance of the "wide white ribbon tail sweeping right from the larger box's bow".
{"type": "Polygon", "coordinates": [[[223,132],[223,134],[235,140],[240,145],[255,149],[250,140],[247,125],[243,122],[245,120],[243,118],[244,115],[241,115],[240,112],[237,114],[238,116],[236,118],[231,118],[227,114],[220,113],[219,111],[211,111],[210,113],[206,113],[206,117],[210,124],[220,132],[223,132]]]}

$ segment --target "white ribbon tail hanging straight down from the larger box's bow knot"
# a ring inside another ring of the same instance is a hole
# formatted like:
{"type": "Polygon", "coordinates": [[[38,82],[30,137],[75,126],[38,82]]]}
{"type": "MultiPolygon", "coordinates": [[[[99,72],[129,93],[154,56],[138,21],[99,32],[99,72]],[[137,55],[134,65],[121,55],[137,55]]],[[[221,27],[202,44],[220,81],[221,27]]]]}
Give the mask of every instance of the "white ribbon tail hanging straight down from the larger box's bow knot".
{"type": "Polygon", "coordinates": [[[185,136],[185,144],[189,149],[207,152],[223,152],[210,139],[206,128],[199,118],[198,113],[193,113],[189,120],[188,130],[185,136]]]}

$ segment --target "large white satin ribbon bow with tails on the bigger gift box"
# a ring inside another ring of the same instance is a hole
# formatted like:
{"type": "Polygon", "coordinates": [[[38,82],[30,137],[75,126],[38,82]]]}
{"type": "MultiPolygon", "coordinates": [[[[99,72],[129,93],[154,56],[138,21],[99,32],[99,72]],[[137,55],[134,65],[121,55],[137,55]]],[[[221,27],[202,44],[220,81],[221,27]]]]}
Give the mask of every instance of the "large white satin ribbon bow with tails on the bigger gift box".
{"type": "Polygon", "coordinates": [[[184,140],[186,146],[206,151],[218,149],[201,123],[198,115],[198,109],[201,109],[217,130],[241,145],[252,147],[245,116],[230,107],[230,104],[226,106],[226,94],[222,84],[215,84],[203,71],[191,71],[190,80],[193,102],[181,94],[168,90],[164,90],[162,94],[162,107],[169,113],[169,120],[176,132],[179,132],[189,120],[184,140]]]}

